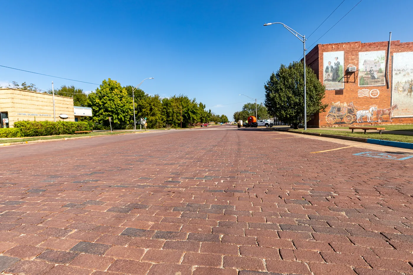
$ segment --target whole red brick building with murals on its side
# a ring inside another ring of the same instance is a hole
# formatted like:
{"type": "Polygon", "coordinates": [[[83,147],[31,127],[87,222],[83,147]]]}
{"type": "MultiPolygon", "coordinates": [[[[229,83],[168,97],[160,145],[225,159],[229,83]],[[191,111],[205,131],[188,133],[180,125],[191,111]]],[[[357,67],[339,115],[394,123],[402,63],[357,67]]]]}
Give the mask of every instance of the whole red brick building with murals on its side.
{"type": "Polygon", "coordinates": [[[306,62],[326,86],[325,112],[309,126],[413,123],[413,42],[319,44],[306,62]]]}

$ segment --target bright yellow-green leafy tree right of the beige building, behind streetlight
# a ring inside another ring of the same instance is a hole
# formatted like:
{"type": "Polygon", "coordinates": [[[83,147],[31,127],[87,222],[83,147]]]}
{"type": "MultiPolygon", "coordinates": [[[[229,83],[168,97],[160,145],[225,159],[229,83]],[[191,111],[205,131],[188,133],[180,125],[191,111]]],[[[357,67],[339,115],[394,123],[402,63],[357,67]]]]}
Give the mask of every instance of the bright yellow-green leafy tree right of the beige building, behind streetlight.
{"type": "Polygon", "coordinates": [[[108,127],[108,117],[111,116],[115,129],[125,129],[133,125],[132,99],[126,88],[110,78],[102,81],[100,87],[88,95],[88,107],[92,108],[94,123],[108,127]]]}

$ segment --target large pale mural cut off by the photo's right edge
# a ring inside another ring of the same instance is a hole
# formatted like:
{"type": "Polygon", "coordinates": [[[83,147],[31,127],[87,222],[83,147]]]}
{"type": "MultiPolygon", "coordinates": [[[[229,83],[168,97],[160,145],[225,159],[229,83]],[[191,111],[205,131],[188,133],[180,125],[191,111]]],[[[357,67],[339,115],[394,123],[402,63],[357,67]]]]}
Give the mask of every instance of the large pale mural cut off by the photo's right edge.
{"type": "Polygon", "coordinates": [[[413,116],[413,52],[395,52],[393,56],[392,104],[394,116],[413,116]]]}

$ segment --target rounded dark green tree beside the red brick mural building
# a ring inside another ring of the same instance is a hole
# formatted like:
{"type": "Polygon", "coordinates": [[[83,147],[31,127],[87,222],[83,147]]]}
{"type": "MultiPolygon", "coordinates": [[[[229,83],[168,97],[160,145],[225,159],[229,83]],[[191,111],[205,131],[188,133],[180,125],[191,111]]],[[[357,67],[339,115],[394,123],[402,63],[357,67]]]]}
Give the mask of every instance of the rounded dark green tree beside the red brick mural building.
{"type": "MultiPolygon", "coordinates": [[[[309,67],[306,69],[307,80],[307,121],[310,114],[325,111],[328,104],[321,100],[325,97],[325,86],[318,81],[316,74],[309,67]]],[[[304,66],[302,62],[293,62],[289,66],[281,65],[277,73],[272,73],[264,85],[265,106],[280,121],[294,126],[304,123],[304,66]]]]}

